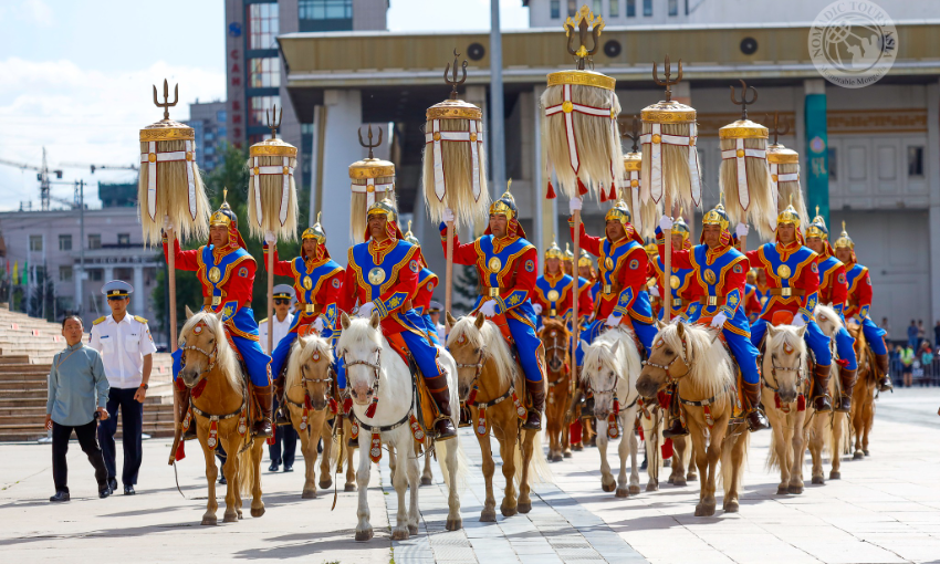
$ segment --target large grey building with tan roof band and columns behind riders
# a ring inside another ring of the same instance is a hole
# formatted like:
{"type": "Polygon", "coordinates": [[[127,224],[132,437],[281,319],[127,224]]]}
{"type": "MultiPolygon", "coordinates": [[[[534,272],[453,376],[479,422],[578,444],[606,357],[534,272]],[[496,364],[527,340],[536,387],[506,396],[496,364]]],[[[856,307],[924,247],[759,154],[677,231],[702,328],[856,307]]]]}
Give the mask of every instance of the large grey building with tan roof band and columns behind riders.
{"type": "MultiPolygon", "coordinates": [[[[771,6],[690,0],[689,18],[728,3],[771,6]]],[[[551,29],[502,34],[506,177],[513,179],[522,224],[542,249],[551,243],[553,233],[562,244],[568,239],[567,201],[544,198],[546,163],[539,100],[547,73],[572,67],[560,28],[567,14],[553,18],[552,4],[530,2],[533,27],[551,29]],[[544,24],[536,19],[542,18],[540,10],[547,13],[544,24]]],[[[808,1],[779,4],[780,10],[785,7],[787,13],[792,10],[795,18],[806,21],[815,17],[810,8],[819,6],[808,1]]],[[[926,2],[910,4],[922,8],[926,2]]],[[[605,20],[610,6],[608,0],[602,2],[605,20]]],[[[617,3],[622,19],[628,18],[629,6],[626,0],[617,3]]],[[[633,6],[640,9],[643,2],[633,6]]],[[[660,9],[669,13],[666,1],[650,6],[654,13],[660,9]]],[[[567,8],[568,2],[560,7],[567,8]]],[[[679,7],[685,13],[686,2],[680,1],[679,7]]],[[[888,8],[899,13],[912,9],[897,2],[888,8]]],[[[748,10],[755,13],[756,8],[748,10]]],[[[767,10],[780,11],[777,7],[767,10]]],[[[931,283],[940,280],[940,61],[936,58],[940,20],[899,19],[897,58],[890,72],[877,84],[847,90],[827,83],[816,71],[807,45],[808,23],[717,21],[727,13],[716,12],[710,17],[713,20],[701,23],[686,19],[668,25],[628,27],[610,19],[593,64],[617,80],[622,123],[626,125],[643,107],[664,97],[662,88],[651,80],[652,61],[660,62],[661,73],[661,61],[670,55],[675,76],[675,64],[681,59],[683,81],[673,92],[698,109],[702,203],[709,208],[719,197],[718,128],[741,112],[729,100],[729,86],[746,80],[760,91],[758,102],[749,107],[752,118],[764,121],[765,114],[779,112],[791,124],[790,133],[780,140],[803,158],[803,186],[810,192],[811,207],[822,201],[826,213],[828,202],[835,237],[846,221],[858,244],[859,260],[871,271],[873,316],[879,321],[886,316],[896,327],[906,326],[910,318],[940,318],[940,284],[931,283]]],[[[781,11],[780,18],[784,15],[781,11]]],[[[457,49],[469,62],[460,96],[483,108],[484,133],[489,134],[487,124],[493,118],[488,109],[489,34],[290,32],[282,25],[278,42],[286,69],[280,79],[281,100],[289,97],[302,127],[313,132],[311,200],[315,210],[323,211],[331,253],[344,257],[349,243],[347,166],[366,155],[356,130],[367,123],[391,124],[390,158],[398,170],[401,211],[414,215],[425,255],[435,271],[443,272],[437,226],[425,219],[420,192],[421,127],[425,111],[450,91],[442,74],[457,49]]],[[[492,187],[493,195],[502,190],[492,187]]],[[[595,201],[585,208],[588,230],[598,233],[602,206],[595,201]]]]}

